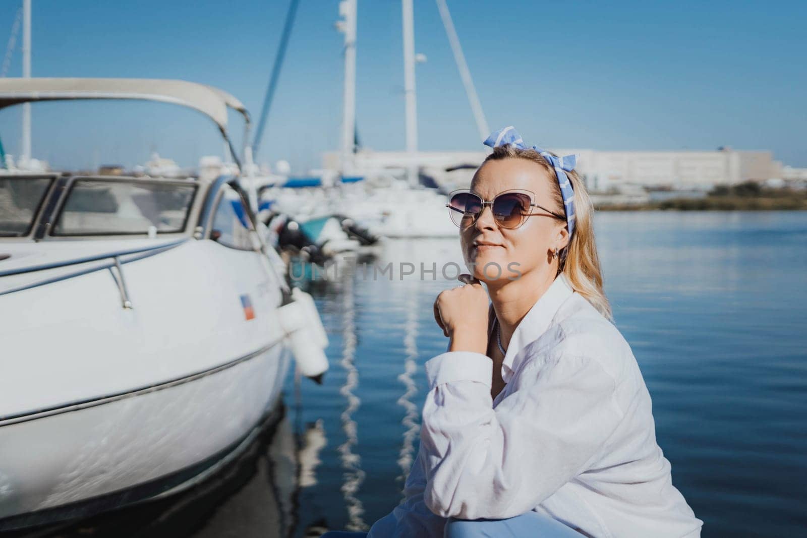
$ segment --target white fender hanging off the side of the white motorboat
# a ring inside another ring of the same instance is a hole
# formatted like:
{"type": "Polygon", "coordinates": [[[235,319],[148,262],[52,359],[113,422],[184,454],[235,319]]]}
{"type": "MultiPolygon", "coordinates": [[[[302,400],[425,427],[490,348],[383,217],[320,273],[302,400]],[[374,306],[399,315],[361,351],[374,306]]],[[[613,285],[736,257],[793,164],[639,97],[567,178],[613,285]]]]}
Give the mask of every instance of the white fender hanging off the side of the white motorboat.
{"type": "Polygon", "coordinates": [[[291,290],[292,302],[278,309],[283,332],[286,332],[297,367],[306,377],[315,381],[328,370],[328,336],[322,326],[314,299],[299,288],[291,290]]]}

